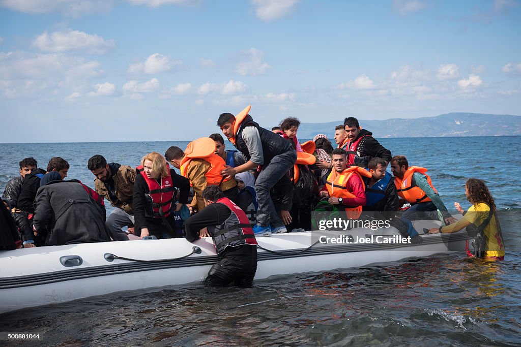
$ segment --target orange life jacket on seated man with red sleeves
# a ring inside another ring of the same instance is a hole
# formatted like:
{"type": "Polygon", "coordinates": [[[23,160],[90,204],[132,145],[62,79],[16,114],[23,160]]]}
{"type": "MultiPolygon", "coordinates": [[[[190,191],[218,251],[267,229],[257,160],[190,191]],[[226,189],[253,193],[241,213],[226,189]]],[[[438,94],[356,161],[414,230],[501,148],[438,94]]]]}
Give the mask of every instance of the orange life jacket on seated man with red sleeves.
{"type": "MultiPolygon", "coordinates": [[[[357,175],[358,177],[360,177],[360,181],[362,181],[362,176],[371,177],[369,171],[359,166],[350,166],[349,168],[345,169],[340,173],[337,173],[336,170],[333,169],[326,181],[326,188],[329,192],[329,196],[343,199],[356,198],[356,196],[347,188],[348,181],[351,175],[357,175]],[[335,174],[333,174],[333,172],[335,174]]],[[[345,214],[348,216],[348,219],[357,219],[361,213],[362,206],[345,208],[345,214]]]]}

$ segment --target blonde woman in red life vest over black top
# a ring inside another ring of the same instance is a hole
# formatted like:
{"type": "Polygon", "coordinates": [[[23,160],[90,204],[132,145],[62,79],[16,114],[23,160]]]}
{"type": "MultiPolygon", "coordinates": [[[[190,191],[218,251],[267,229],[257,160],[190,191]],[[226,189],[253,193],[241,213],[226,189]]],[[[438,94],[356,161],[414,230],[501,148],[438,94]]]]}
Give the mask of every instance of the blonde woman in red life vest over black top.
{"type": "Polygon", "coordinates": [[[144,156],[136,173],[133,196],[135,234],[141,238],[181,237],[176,235],[175,212],[188,203],[188,178],[170,169],[165,158],[157,152],[144,156]]]}

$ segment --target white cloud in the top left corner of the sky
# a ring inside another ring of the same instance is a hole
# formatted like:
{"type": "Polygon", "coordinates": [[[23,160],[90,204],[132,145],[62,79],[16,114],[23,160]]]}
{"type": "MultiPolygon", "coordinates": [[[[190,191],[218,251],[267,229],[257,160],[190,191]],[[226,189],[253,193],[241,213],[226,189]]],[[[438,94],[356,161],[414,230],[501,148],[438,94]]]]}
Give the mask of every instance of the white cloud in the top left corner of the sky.
{"type": "Polygon", "coordinates": [[[0,0],[0,6],[32,15],[60,12],[77,17],[82,14],[108,12],[111,0],[0,0]]]}

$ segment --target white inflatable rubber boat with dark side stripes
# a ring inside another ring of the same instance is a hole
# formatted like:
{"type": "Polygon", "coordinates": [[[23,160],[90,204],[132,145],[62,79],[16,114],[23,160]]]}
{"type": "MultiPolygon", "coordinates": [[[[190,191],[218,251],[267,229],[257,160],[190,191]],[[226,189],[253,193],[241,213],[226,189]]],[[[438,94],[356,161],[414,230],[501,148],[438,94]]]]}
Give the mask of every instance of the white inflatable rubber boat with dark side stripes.
{"type": "MultiPolygon", "coordinates": [[[[429,223],[425,227],[439,225],[429,223]]],[[[459,252],[465,249],[466,232],[423,234],[416,243],[392,227],[274,234],[257,240],[256,280],[459,252]]],[[[0,251],[0,313],[118,291],[190,284],[203,280],[217,260],[211,238],[0,251]]]]}

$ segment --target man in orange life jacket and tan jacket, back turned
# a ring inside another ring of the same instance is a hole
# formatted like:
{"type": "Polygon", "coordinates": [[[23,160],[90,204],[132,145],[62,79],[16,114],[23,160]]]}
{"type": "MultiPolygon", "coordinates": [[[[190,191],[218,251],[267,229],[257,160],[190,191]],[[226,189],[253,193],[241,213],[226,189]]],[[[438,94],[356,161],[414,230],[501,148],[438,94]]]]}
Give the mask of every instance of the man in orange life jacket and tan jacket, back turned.
{"type": "Polygon", "coordinates": [[[215,154],[213,139],[201,137],[193,140],[184,152],[181,148],[172,146],[165,152],[165,158],[179,169],[183,177],[190,180],[190,186],[194,191],[194,198],[190,204],[192,209],[204,209],[203,190],[207,186],[219,186],[230,200],[237,202],[239,199],[239,188],[235,178],[220,175],[226,168],[226,163],[215,154]]]}

